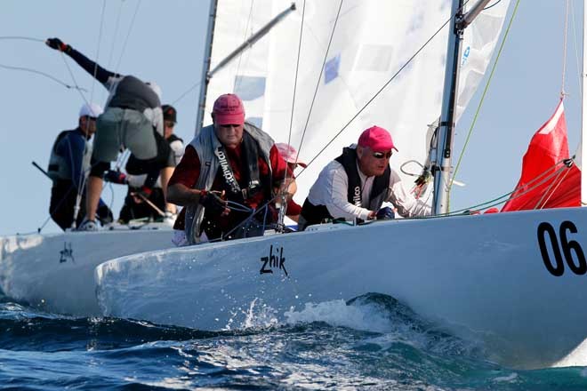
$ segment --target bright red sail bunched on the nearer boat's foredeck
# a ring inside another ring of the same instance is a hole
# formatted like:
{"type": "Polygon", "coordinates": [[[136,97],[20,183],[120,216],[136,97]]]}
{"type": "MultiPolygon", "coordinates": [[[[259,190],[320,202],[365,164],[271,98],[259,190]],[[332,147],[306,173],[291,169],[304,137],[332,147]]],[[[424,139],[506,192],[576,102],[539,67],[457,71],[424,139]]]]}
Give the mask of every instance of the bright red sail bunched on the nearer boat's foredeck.
{"type": "Polygon", "coordinates": [[[516,191],[502,211],[563,208],[581,204],[581,172],[568,159],[567,122],[562,100],[530,141],[516,191]],[[531,188],[531,189],[530,189],[531,188]]]}

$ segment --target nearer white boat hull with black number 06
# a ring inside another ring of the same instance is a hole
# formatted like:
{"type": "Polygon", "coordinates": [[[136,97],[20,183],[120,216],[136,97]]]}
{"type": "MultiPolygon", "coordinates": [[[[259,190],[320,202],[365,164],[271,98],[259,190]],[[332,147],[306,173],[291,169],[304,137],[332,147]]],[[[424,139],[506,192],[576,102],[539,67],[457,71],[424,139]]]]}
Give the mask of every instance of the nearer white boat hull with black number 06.
{"type": "Polygon", "coordinates": [[[96,268],[97,294],[106,315],[218,330],[242,324],[253,302],[283,318],[290,307],[374,291],[472,331],[503,362],[539,367],[587,338],[587,275],[564,256],[563,275],[552,275],[540,250],[540,224],[560,243],[563,221],[578,231],[565,231],[566,242],[587,245],[585,209],[326,226],[113,259],[96,268]],[[289,277],[269,264],[273,273],[260,273],[270,249],[277,259],[283,249],[289,277]]]}

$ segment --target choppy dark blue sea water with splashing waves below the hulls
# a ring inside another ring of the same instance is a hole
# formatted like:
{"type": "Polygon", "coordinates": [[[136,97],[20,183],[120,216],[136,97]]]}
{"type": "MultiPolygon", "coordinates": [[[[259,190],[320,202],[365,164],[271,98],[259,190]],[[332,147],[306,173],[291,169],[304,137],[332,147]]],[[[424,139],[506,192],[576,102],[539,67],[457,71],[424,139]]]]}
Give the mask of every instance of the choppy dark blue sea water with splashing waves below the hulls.
{"type": "Polygon", "coordinates": [[[198,331],[47,314],[0,295],[0,388],[587,389],[587,368],[500,366],[389,296],[308,305],[286,319],[198,331]]]}

